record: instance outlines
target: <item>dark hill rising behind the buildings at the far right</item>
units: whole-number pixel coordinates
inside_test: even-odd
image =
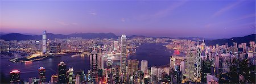
[[[233,45],[233,42],[236,42],[237,44],[246,43],[249,45],[250,41],[255,41],[256,37],[255,34],[247,35],[243,37],[232,37],[230,39],[217,39],[217,40],[205,40],[205,45],[224,45],[225,43],[228,43],[228,45]]]

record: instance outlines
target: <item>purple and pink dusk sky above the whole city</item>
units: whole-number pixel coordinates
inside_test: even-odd
[[[0,1],[1,32],[113,32],[213,39],[255,33],[255,0]]]

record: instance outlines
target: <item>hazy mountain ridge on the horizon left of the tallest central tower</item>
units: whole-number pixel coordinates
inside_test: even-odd
[[[53,34],[47,33],[47,39],[65,39],[70,37],[82,37],[83,39],[94,39],[94,38],[114,38],[117,39],[118,36],[114,35],[114,33],[72,33],[70,35],[61,35],[61,34]],[[20,33],[9,33],[6,35],[1,35],[0,39],[3,40],[42,40],[42,35],[23,35]]]

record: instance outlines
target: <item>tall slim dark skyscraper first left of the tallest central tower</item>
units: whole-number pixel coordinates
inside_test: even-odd
[[[90,53],[90,61],[91,61],[91,66],[90,68],[92,69],[92,82],[97,83],[98,81],[98,53],[95,49]]]

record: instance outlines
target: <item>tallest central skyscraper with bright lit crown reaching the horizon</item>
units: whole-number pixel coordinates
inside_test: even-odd
[[[121,36],[121,58],[120,58],[120,64],[121,64],[121,79],[125,80],[126,75],[126,36]]]

